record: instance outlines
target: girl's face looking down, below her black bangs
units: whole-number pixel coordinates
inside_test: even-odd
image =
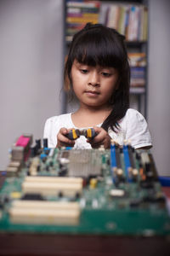
[[[91,67],[75,60],[71,67],[71,80],[81,106],[108,108],[118,86],[118,72],[113,67]]]

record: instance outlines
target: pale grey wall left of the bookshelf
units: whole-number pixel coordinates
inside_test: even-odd
[[[14,138],[61,111],[62,0],[0,1],[0,170]]]

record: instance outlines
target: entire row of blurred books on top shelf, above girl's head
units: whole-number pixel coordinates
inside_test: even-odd
[[[66,1],[66,39],[88,22],[115,28],[130,42],[147,40],[148,9],[143,4]]]

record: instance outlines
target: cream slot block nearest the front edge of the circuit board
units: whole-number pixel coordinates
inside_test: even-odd
[[[75,202],[14,201],[8,210],[14,224],[78,224],[80,207]]]

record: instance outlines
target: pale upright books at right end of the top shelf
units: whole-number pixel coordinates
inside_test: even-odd
[[[99,22],[115,28],[127,41],[146,41],[148,9],[143,4],[102,3]]]

